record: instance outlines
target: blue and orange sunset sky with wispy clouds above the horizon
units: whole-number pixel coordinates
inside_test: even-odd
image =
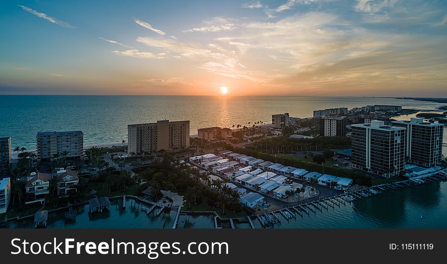
[[[0,94],[447,93],[447,1],[2,1]]]

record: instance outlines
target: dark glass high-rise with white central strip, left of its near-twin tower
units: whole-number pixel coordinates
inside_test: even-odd
[[[353,168],[383,177],[399,175],[405,166],[406,129],[383,121],[352,125]]]

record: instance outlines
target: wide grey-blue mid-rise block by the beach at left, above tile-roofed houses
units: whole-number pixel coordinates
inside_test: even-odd
[[[84,149],[84,133],[82,131],[39,132],[37,139],[37,160],[53,161],[59,154],[65,158],[80,158]],[[67,155],[63,153],[67,151]]]

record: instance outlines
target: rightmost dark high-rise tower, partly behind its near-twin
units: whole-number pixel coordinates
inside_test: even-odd
[[[433,167],[442,161],[442,124],[424,122],[422,118],[393,121],[392,124],[407,130],[405,155],[409,162]]]

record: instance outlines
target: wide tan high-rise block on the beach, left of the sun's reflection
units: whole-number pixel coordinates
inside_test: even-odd
[[[189,147],[189,121],[169,120],[127,126],[127,153],[156,153]]]

